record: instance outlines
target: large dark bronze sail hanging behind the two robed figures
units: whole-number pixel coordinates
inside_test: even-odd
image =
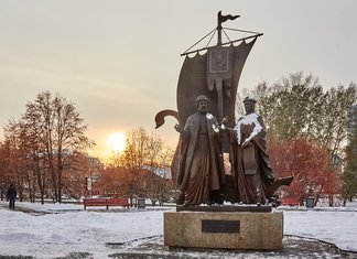
[[[228,47],[220,47],[228,53],[228,72],[216,73],[219,74],[217,76],[215,76],[215,73],[209,73],[208,71],[209,62],[213,62],[208,60],[209,53],[215,48],[209,48],[203,55],[197,53],[194,57],[186,55],[180,73],[176,95],[181,123],[184,125],[187,117],[195,112],[195,107],[192,105],[195,98],[198,95],[206,95],[212,101],[209,111],[218,118],[218,120],[228,116],[229,120],[227,126],[234,127],[236,121],[235,106],[239,78],[249,52],[256,41],[257,37],[249,43],[242,41],[238,46],[231,45]],[[221,84],[220,89],[217,89],[218,84]],[[219,112],[219,95],[221,95],[223,98],[221,112]]]

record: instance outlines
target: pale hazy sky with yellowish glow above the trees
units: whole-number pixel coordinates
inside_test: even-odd
[[[357,82],[354,0],[0,0],[0,127],[51,90],[75,104],[98,152],[113,132],[153,131],[158,111],[176,109],[180,54],[219,10],[241,15],[224,26],[264,33],[239,87],[299,71],[326,88]],[[175,143],[174,123],[154,131]]]

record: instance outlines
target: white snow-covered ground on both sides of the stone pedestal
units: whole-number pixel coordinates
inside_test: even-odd
[[[120,244],[163,235],[163,208],[87,208],[73,204],[30,204],[17,202],[9,211],[0,202],[0,256],[64,257],[71,252],[108,258],[115,252],[106,244]],[[316,238],[339,249],[357,252],[357,205],[345,208],[284,209],[284,235]],[[170,211],[173,208],[165,208]]]

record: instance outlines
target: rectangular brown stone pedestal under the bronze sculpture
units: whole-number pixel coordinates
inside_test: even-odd
[[[169,247],[280,250],[283,213],[165,212]]]

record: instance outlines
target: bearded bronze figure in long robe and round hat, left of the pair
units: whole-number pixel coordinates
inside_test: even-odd
[[[195,99],[197,111],[191,115],[181,133],[180,152],[175,155],[176,184],[182,192],[177,204],[212,204],[214,192],[225,181],[221,154],[221,129],[216,117],[208,114],[209,99],[199,95]]]

